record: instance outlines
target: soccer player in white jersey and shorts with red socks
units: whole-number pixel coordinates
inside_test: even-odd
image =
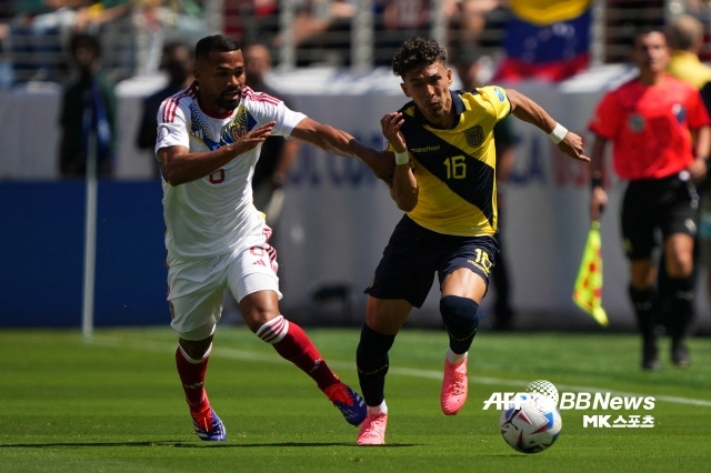
[[[279,310],[281,298],[271,229],[252,204],[251,179],[270,134],[357,157],[377,177],[393,171],[391,154],[342,130],[289,110],[244,84],[244,61],[233,39],[217,34],[196,46],[194,82],[158,112],[157,158],[163,185],[168,302],[179,334],[176,364],[198,436],[224,441],[203,383],[223,291],[239,303],[247,326],[311,376],[346,420],[365,417],[361,396],[340,381],[308,335]]]

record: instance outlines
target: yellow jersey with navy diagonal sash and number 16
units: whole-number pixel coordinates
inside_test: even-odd
[[[451,93],[459,118],[451,129],[432,127],[414,102],[400,110],[419,188],[418,203],[408,215],[439,233],[493,235],[498,227],[493,125],[511,112],[511,102],[498,85]]]

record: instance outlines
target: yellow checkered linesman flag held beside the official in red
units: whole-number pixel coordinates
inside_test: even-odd
[[[602,326],[608,325],[608,315],[602,309],[602,252],[600,222],[593,221],[582,253],[573,302],[588,312]]]

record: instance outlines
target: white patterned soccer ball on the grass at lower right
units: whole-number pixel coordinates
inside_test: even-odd
[[[523,453],[538,453],[560,435],[563,421],[553,401],[537,392],[517,393],[501,411],[499,426],[503,440]]]

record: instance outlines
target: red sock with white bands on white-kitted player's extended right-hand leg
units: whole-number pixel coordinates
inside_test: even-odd
[[[339,382],[309,335],[296,323],[279,315],[260,326],[257,336],[271,343],[277,353],[311,376],[321,391]]]

